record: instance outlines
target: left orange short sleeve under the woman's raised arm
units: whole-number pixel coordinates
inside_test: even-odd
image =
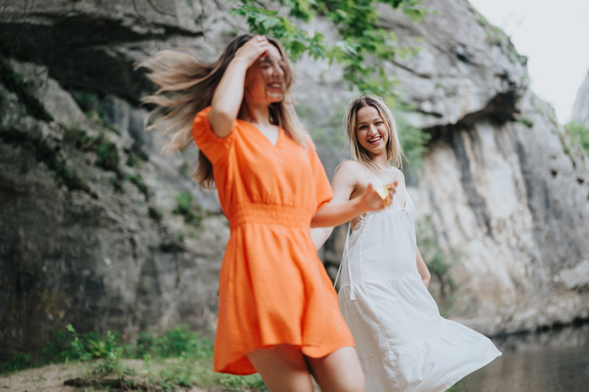
[[[209,122],[210,112],[211,107],[209,106],[202,109],[197,113],[196,117],[194,117],[192,123],[192,137],[198,150],[202,151],[204,155],[209,158],[211,164],[214,165],[227,155],[235,132],[234,129],[232,129],[231,133],[226,137],[221,138],[217,136],[217,134],[213,132],[213,128],[211,128]]]

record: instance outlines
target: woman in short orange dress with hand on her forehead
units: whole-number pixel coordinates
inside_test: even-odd
[[[138,65],[161,89],[145,101],[170,137],[199,148],[196,180],[216,185],[231,235],[219,277],[214,370],[260,373],[270,390],[364,389],[352,334],[310,237],[383,207],[378,193],[344,204],[294,112],[293,71],[279,42],[241,35],[213,64],[176,51]],[[196,114],[196,117],[194,115]],[[394,187],[391,194],[394,192]]]

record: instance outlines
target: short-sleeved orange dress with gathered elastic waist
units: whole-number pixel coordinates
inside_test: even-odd
[[[194,142],[213,164],[231,235],[219,277],[214,370],[252,374],[246,354],[292,344],[319,358],[354,346],[309,229],[333,192],[315,149],[280,129],[276,145],[237,119],[224,138],[210,107],[193,122]]]

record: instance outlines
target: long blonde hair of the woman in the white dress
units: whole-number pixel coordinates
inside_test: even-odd
[[[346,106],[346,115],[343,120],[346,144],[352,152],[352,161],[358,162],[370,170],[379,170],[376,164],[372,161],[370,153],[366,151],[358,142],[358,135],[356,134],[356,125],[358,125],[358,111],[367,106],[373,107],[378,111],[382,121],[386,125],[389,132],[389,139],[386,142],[386,160],[393,167],[403,169],[403,159],[405,154],[399,143],[399,135],[397,133],[397,125],[395,123],[395,116],[393,116],[391,109],[385,104],[385,101],[378,95],[362,94],[359,97],[352,99]]]

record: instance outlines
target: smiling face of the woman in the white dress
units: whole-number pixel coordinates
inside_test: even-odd
[[[356,114],[356,137],[358,143],[372,157],[384,154],[386,157],[386,143],[389,141],[389,131],[383,118],[376,108],[365,106]]]

